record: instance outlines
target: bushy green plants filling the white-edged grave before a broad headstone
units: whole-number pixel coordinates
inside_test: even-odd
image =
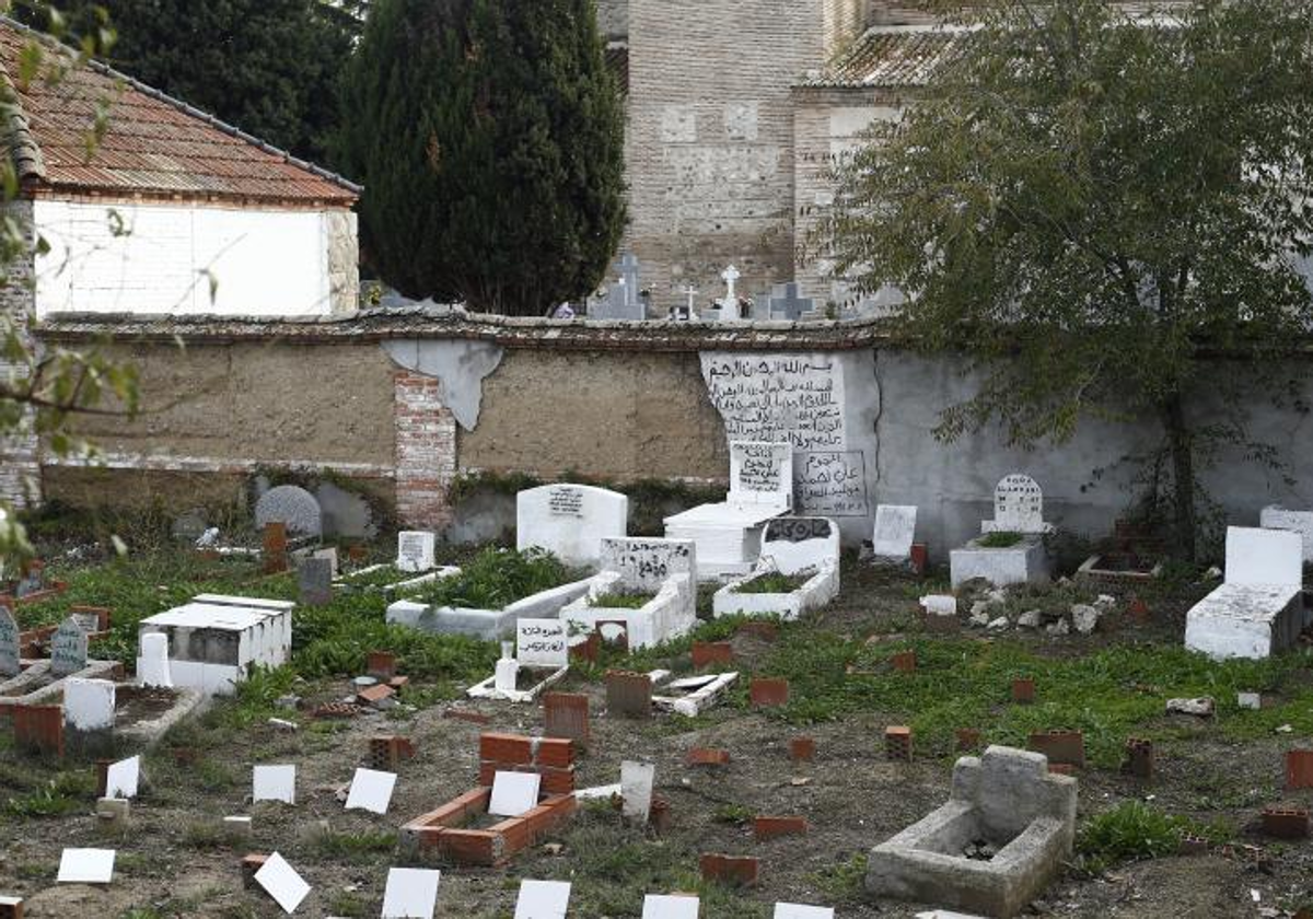
[[[541,549],[484,549],[461,568],[461,574],[442,578],[415,596],[435,607],[503,609],[583,576]]]

